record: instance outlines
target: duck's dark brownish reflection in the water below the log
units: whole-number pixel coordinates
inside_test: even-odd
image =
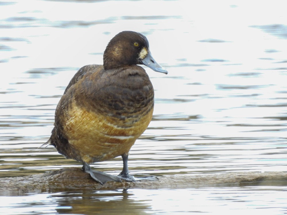
[[[122,191],[80,191],[55,193],[48,197],[59,214],[146,214],[150,204],[135,201],[134,194]]]

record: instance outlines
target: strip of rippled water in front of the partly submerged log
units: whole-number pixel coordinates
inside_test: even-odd
[[[0,214],[282,214],[287,209],[285,191],[284,187],[271,186],[55,191],[0,197]]]

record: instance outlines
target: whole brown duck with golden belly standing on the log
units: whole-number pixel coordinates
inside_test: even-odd
[[[154,110],[154,88],[145,69],[167,74],[152,57],[141,33],[123,31],[106,46],[103,65],[80,68],[55,110],[49,140],[66,158],[82,162],[83,171],[100,184],[108,181],[158,180],[129,175],[129,150],[147,129]],[[44,145],[43,144],[43,145]],[[121,156],[118,176],[93,170],[90,164]]]

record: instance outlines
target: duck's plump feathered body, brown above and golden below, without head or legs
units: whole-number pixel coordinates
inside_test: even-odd
[[[55,113],[51,144],[87,163],[128,153],[152,118],[154,90],[142,67],[82,67]]]

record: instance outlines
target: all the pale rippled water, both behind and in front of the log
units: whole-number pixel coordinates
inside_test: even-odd
[[[124,6],[123,6],[124,5]],[[284,1],[1,1],[0,174],[81,167],[53,147],[56,105],[118,32],[145,34],[155,110],[130,172],[287,171]],[[152,146],[152,147],[151,147]],[[120,158],[94,165],[116,175]],[[286,187],[51,191],[0,197],[0,214],[286,214]]]

